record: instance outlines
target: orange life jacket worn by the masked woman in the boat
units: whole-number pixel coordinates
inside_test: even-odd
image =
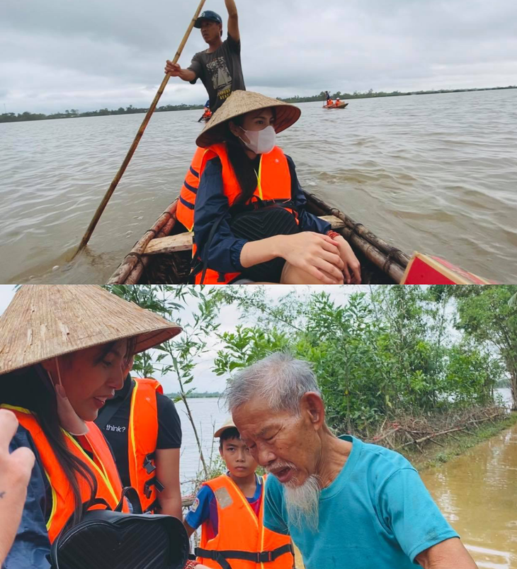
[[[209,160],[218,157],[222,164],[222,186],[225,196],[228,198],[228,205],[231,208],[241,195],[241,186],[237,176],[229,161],[227,146],[220,143],[210,146],[203,155],[200,176],[203,175],[206,164]],[[275,146],[268,154],[261,155],[260,166],[257,172],[257,187],[248,203],[256,201],[278,201],[289,202],[291,195],[291,174],[289,171],[288,159],[283,151]],[[195,247],[193,255],[195,256]],[[239,278],[240,273],[223,274],[218,271],[208,269],[203,280],[204,284],[227,284]],[[201,284],[202,272],[195,275],[195,283]]]

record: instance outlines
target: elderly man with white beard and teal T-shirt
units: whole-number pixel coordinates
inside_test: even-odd
[[[307,569],[475,569],[401,454],[334,436],[306,361],[272,354],[226,392],[241,439],[268,473],[264,525],[290,535]]]

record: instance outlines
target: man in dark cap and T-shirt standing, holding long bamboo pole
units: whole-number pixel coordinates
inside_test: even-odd
[[[210,110],[215,113],[233,91],[246,90],[241,64],[241,36],[239,16],[234,0],[225,0],[228,11],[228,37],[222,40],[222,18],[206,10],[195,21],[195,28],[201,30],[208,49],[194,55],[190,66],[181,69],[178,63],[167,60],[165,72],[171,77],[195,84],[198,79],[210,98]]]

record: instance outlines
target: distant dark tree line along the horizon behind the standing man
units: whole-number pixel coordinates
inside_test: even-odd
[[[341,99],[352,99],[352,98],[375,98],[375,97],[399,97],[399,96],[409,96],[409,95],[434,95],[434,94],[445,94],[445,93],[469,93],[471,91],[501,91],[504,89],[517,89],[517,85],[509,85],[506,87],[486,87],[480,89],[439,89],[434,91],[369,91],[360,92],[354,91],[353,93],[341,93],[341,91],[336,91],[331,94],[331,98],[341,98]],[[300,97],[298,95],[280,98],[279,101],[284,101],[285,103],[311,103],[314,101],[324,101],[326,99],[325,91],[322,91],[319,95],[313,95],[309,97]],[[164,105],[157,107],[154,111],[156,113],[164,113],[168,111],[195,111],[203,109],[203,105],[187,105],[182,103],[181,105]],[[109,116],[109,115],[135,115],[138,113],[147,113],[149,108],[139,108],[132,105],[124,108],[119,107],[118,109],[108,109],[101,108],[98,111],[86,111],[85,113],[79,113],[78,109],[67,109],[64,113],[52,113],[50,115],[45,115],[44,113],[29,113],[25,111],[24,113],[2,113],[0,114],[0,123],[19,123],[26,120],[50,120],[57,118],[79,118],[79,117],[93,117],[93,116]]]

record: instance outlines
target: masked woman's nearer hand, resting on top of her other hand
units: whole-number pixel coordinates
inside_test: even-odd
[[[292,266],[306,271],[326,284],[343,283],[345,264],[338,242],[327,235],[302,232],[295,235],[277,235],[279,255]]]

